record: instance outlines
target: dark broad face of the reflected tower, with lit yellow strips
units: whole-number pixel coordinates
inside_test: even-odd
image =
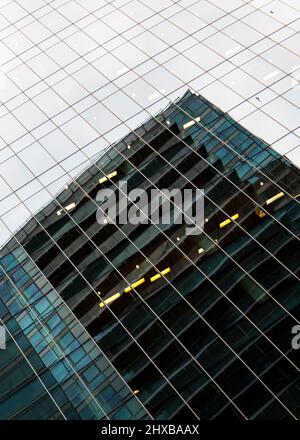
[[[128,191],[204,188],[204,232],[99,224],[96,194],[120,179]],[[298,418],[299,182],[287,159],[187,92],[15,240],[151,417]]]

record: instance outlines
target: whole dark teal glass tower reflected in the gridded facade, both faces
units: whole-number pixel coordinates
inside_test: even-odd
[[[105,221],[120,181],[204,189],[203,231]],[[299,418],[299,193],[189,91],[102,152],[1,250],[0,418]]]

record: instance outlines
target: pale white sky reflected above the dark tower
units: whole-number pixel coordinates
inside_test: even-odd
[[[0,0],[0,243],[189,87],[300,164],[299,0]]]

